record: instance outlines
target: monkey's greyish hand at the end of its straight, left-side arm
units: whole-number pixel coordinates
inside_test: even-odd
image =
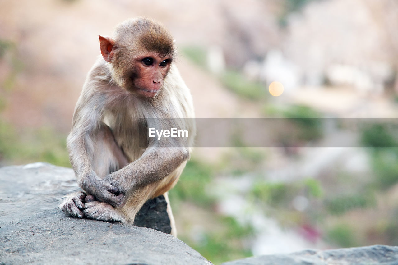
[[[97,176],[90,176],[78,182],[84,191],[93,195],[98,201],[109,203],[113,207],[117,207],[121,203],[121,197],[115,195],[118,192],[117,187],[109,184],[104,179],[100,179]]]

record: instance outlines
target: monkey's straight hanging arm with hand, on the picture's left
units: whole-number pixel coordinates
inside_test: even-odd
[[[117,206],[121,199],[117,188],[101,179],[94,170],[94,152],[101,132],[102,105],[97,94],[82,94],[76,105],[72,130],[67,138],[70,163],[78,185],[99,201]],[[105,175],[105,174],[104,174]]]

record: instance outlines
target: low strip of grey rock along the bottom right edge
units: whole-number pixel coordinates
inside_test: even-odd
[[[397,265],[398,247],[367,246],[332,250],[304,250],[292,254],[263,255],[222,265]]]

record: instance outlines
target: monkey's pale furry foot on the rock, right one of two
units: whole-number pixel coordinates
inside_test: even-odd
[[[108,203],[102,203],[99,201],[93,201],[90,203],[84,203],[84,216],[94,220],[101,221],[115,221],[115,222],[126,222],[126,217],[123,213],[119,212],[112,205]]]

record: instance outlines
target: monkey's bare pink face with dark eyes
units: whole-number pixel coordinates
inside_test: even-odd
[[[171,58],[147,55],[136,60],[137,76],[133,78],[135,92],[142,97],[152,98],[163,86],[163,80],[169,71]]]

